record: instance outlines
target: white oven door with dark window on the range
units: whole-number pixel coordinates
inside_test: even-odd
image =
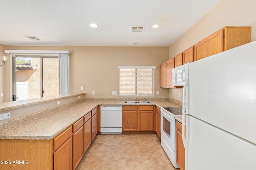
[[[161,140],[175,152],[175,119],[161,110]]]

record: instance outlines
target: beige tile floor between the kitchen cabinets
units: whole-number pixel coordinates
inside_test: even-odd
[[[156,134],[97,135],[76,170],[175,170]]]

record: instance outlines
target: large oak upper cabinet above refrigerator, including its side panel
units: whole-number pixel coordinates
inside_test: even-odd
[[[195,61],[251,42],[251,27],[224,27],[194,45]]]

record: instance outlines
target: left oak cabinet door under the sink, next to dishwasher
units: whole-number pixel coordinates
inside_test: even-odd
[[[137,131],[137,110],[123,111],[122,131]]]

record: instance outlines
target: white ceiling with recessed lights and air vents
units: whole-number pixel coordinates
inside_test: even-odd
[[[0,44],[167,47],[220,1],[1,0]],[[144,31],[132,32],[132,25]]]

